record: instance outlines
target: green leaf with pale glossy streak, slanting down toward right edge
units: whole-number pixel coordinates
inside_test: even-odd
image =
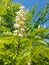
[[[38,36],[35,36],[32,40],[33,42],[33,45],[42,45],[42,46],[48,46],[47,45],[47,42],[45,42],[39,35]]]

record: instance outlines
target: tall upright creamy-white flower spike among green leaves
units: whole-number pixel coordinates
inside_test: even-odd
[[[24,25],[25,25],[25,7],[19,7],[19,11],[16,13],[15,24],[14,24],[14,35],[23,36],[24,35]]]

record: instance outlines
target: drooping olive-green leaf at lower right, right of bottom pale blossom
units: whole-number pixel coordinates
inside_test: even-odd
[[[41,53],[42,46],[35,46],[31,52],[31,59],[33,62],[37,63],[37,57],[39,57],[39,54]]]

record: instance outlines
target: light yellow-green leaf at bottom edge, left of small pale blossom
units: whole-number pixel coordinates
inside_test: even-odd
[[[16,58],[17,59],[17,58]],[[20,56],[20,59],[18,57],[18,65],[26,65],[27,62],[31,59],[30,51],[27,51],[24,53],[24,55]],[[23,61],[23,62],[22,62]],[[24,63],[24,64],[23,64]],[[17,65],[17,64],[16,64]]]

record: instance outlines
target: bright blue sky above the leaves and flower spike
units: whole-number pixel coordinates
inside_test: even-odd
[[[18,2],[25,6],[26,9],[30,9],[32,6],[34,6],[36,3],[38,3],[37,9],[45,8],[46,2],[49,2],[49,0],[13,0],[14,2]],[[49,21],[46,23],[46,26],[49,26]]]

